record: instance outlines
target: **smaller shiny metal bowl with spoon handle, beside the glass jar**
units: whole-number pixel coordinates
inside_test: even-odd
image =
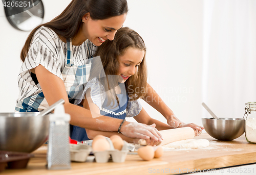
[[[245,132],[243,118],[202,118],[205,131],[218,140],[233,140]]]

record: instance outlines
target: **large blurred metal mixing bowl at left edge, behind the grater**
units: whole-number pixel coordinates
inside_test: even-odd
[[[0,113],[0,150],[31,153],[49,136],[49,115]]]

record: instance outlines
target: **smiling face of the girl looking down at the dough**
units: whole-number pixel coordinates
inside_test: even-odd
[[[144,55],[145,51],[129,47],[122,56],[118,57],[119,69],[117,75],[120,76],[120,83],[124,83],[137,72]]]

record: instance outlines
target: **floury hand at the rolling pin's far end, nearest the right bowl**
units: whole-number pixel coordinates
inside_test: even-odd
[[[195,136],[202,134],[204,127],[200,127],[195,123],[184,123],[180,121],[174,114],[167,118],[167,123],[173,128],[191,127],[195,131]]]

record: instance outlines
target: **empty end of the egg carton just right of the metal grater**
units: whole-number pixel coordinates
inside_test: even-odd
[[[74,162],[85,162],[92,151],[92,146],[86,144],[69,144],[70,158]]]

